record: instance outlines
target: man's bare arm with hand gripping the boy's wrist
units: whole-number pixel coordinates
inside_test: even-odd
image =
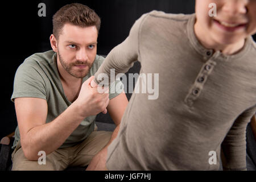
[[[92,79],[93,77],[90,77],[84,82],[77,100],[49,123],[46,123],[46,100],[15,98],[20,142],[28,160],[38,160],[39,151],[50,154],[64,143],[85,117],[96,115],[106,109],[109,104],[109,94],[100,94],[97,88],[91,88],[89,84]]]

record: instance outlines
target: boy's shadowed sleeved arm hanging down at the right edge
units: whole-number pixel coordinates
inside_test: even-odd
[[[256,107],[243,112],[222,142],[222,166],[224,170],[246,170],[246,126]]]

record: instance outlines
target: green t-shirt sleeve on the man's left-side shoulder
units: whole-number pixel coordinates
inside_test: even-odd
[[[18,97],[36,97],[47,100],[46,83],[40,74],[40,66],[34,60],[25,60],[15,73],[11,101]]]

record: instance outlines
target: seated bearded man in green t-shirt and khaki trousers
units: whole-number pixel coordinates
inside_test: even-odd
[[[16,71],[13,170],[64,170],[87,166],[93,157],[92,165],[104,162],[128,101],[120,90],[99,93],[90,86],[104,61],[96,55],[99,30],[93,10],[66,5],[53,16],[53,51],[28,57]],[[113,134],[95,128],[96,114],[107,110],[117,125]],[[47,157],[40,165],[42,154]]]

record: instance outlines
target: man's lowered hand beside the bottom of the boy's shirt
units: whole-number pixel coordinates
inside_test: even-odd
[[[107,147],[104,147],[100,152],[98,152],[86,168],[86,171],[105,171],[107,152]]]

